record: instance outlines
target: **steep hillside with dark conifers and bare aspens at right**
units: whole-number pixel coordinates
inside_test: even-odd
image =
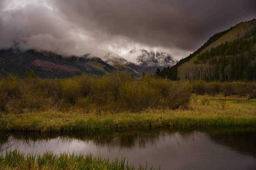
[[[256,80],[256,20],[216,33],[160,75],[172,80]]]

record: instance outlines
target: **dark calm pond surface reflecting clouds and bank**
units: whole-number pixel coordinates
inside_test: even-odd
[[[256,128],[130,130],[75,134],[3,133],[0,153],[75,152],[106,158],[126,156],[161,169],[256,170]]]

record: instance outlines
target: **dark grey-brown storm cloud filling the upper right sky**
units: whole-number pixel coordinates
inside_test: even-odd
[[[59,0],[57,6],[81,26],[86,27],[83,20],[90,20],[111,35],[186,50],[256,16],[255,0]]]

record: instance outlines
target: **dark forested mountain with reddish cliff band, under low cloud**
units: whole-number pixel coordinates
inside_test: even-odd
[[[63,57],[52,52],[8,49],[0,50],[0,61],[0,76],[14,73],[23,77],[26,71],[33,70],[36,76],[41,78],[64,78],[80,75],[83,72],[103,75],[114,71],[126,71],[139,77],[136,70],[126,65],[112,66],[90,54],[82,57]]]

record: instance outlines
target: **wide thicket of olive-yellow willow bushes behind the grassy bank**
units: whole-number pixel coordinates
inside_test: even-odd
[[[25,78],[9,75],[0,80],[5,85],[0,92],[0,109],[45,109],[54,106],[68,110],[76,106],[86,113],[92,106],[101,111],[148,108],[176,109],[187,107],[192,86],[189,82],[172,82],[144,76],[134,79],[130,74],[115,72],[102,77],[83,74],[64,79]],[[7,97],[8,96],[8,97]]]

